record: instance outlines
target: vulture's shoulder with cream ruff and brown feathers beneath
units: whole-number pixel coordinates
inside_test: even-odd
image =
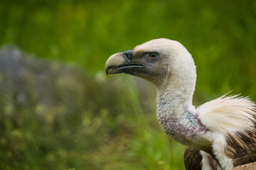
[[[218,142],[219,153],[233,159],[233,166],[256,162],[255,103],[238,95],[222,96],[197,111],[201,123],[218,134],[218,139],[213,137],[213,149]]]

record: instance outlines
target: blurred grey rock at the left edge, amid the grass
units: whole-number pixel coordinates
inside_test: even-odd
[[[38,59],[14,45],[0,50],[0,91],[9,104],[71,111],[82,104],[86,81],[92,78],[68,64]]]

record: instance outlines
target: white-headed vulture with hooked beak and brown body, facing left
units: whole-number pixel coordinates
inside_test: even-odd
[[[227,94],[195,107],[196,66],[180,42],[159,38],[110,56],[107,74],[156,86],[156,117],[166,135],[188,146],[186,169],[256,169],[256,104]]]

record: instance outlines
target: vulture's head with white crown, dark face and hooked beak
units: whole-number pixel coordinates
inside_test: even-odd
[[[126,73],[142,77],[158,88],[196,83],[196,66],[180,42],[159,38],[137,45],[133,50],[112,55],[105,64],[107,74]]]

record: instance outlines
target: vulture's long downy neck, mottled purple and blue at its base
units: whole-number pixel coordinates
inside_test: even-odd
[[[208,129],[202,125],[192,105],[195,83],[196,80],[181,82],[169,79],[167,86],[157,89],[156,109],[159,123],[167,135],[183,145],[201,149],[198,140],[202,140],[200,136]]]

